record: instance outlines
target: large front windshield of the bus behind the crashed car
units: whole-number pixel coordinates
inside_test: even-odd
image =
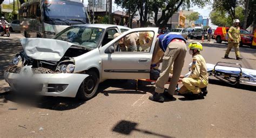
[[[82,3],[71,1],[44,1],[44,21],[70,24],[88,23],[86,10]]]

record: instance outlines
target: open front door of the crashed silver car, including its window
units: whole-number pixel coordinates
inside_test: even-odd
[[[102,47],[102,78],[150,78],[157,31],[158,28],[134,28]]]

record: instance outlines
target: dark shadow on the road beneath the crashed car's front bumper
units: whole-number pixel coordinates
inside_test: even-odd
[[[7,103],[9,100],[27,106],[56,111],[72,110],[79,107],[80,105],[85,104],[85,101],[81,101],[76,98],[18,95],[14,92],[1,93],[0,98],[4,99],[4,103]]]

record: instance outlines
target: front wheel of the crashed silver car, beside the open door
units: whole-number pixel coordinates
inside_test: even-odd
[[[99,76],[95,71],[86,72],[88,77],[80,84],[76,98],[80,100],[89,100],[97,95],[99,86]]]

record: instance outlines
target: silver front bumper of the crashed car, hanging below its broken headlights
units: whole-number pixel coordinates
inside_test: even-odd
[[[42,96],[76,97],[80,84],[89,76],[86,74],[23,75],[23,70],[19,74],[5,71],[5,81],[14,91],[25,93],[26,90],[32,89],[35,92],[33,94]]]

